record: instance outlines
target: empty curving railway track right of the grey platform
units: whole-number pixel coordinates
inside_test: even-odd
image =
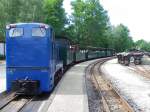
[[[99,93],[103,112],[134,112],[128,102],[119,95],[100,70],[100,66],[111,58],[101,59],[90,65],[91,80]]]

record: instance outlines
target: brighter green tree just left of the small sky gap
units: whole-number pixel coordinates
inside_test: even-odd
[[[44,0],[44,22],[52,25],[56,34],[60,35],[66,23],[63,0]]]

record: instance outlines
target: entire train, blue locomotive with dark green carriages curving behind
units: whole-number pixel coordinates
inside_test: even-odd
[[[7,91],[26,95],[50,92],[58,72],[68,65],[113,55],[113,49],[80,49],[67,39],[55,39],[53,28],[43,23],[7,25]]]

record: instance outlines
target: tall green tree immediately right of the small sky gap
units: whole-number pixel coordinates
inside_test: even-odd
[[[99,0],[76,0],[72,6],[74,40],[83,46],[105,47],[108,16]]]

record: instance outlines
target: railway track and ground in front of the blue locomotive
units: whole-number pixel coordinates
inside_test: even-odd
[[[49,93],[38,96],[19,96],[14,92],[1,94],[0,112],[47,112],[52,101],[53,97]],[[44,105],[43,102],[45,102]]]

